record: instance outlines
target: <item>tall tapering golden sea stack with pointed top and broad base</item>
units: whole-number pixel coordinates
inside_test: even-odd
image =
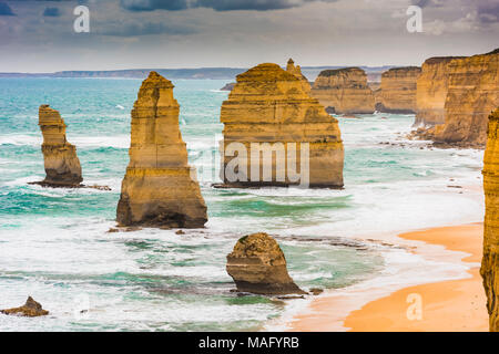
[[[121,186],[121,226],[198,228],[206,206],[187,164],[173,84],[151,72],[132,110],[130,164]],[[193,179],[194,178],[194,179]]]

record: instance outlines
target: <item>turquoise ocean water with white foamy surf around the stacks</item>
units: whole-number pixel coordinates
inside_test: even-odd
[[[227,96],[218,88],[225,83],[174,81],[183,138],[208,206],[206,228],[108,233],[141,81],[0,79],[0,309],[20,305],[30,294],[51,312],[40,319],[0,316],[0,331],[259,330],[301,300],[230,292],[225,256],[253,231],[278,239],[304,289],[361,287],[387,279],[388,266],[391,282],[416,280],[425,267],[441,277],[448,264],[429,264],[383,240],[479,221],[481,152],[406,140],[411,115],[339,118],[344,190],[213,189],[220,106]],[[40,104],[59,110],[68,124],[84,184],[111,191],[27,184],[44,177]]]

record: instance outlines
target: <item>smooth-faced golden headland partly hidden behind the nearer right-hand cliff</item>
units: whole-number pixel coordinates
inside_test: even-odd
[[[449,64],[464,56],[436,56],[426,60],[417,80],[415,126],[442,124],[446,117],[446,97],[449,86]]]

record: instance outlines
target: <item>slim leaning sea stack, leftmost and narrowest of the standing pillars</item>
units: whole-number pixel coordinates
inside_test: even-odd
[[[65,124],[58,111],[48,104],[39,108],[39,125],[43,135],[42,153],[47,177],[39,183],[43,186],[79,186],[81,165],[77,148],[65,139]]]

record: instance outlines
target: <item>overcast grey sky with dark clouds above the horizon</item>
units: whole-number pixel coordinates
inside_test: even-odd
[[[73,30],[80,3],[90,33]],[[420,65],[498,48],[498,18],[499,0],[0,0],[0,72]]]

